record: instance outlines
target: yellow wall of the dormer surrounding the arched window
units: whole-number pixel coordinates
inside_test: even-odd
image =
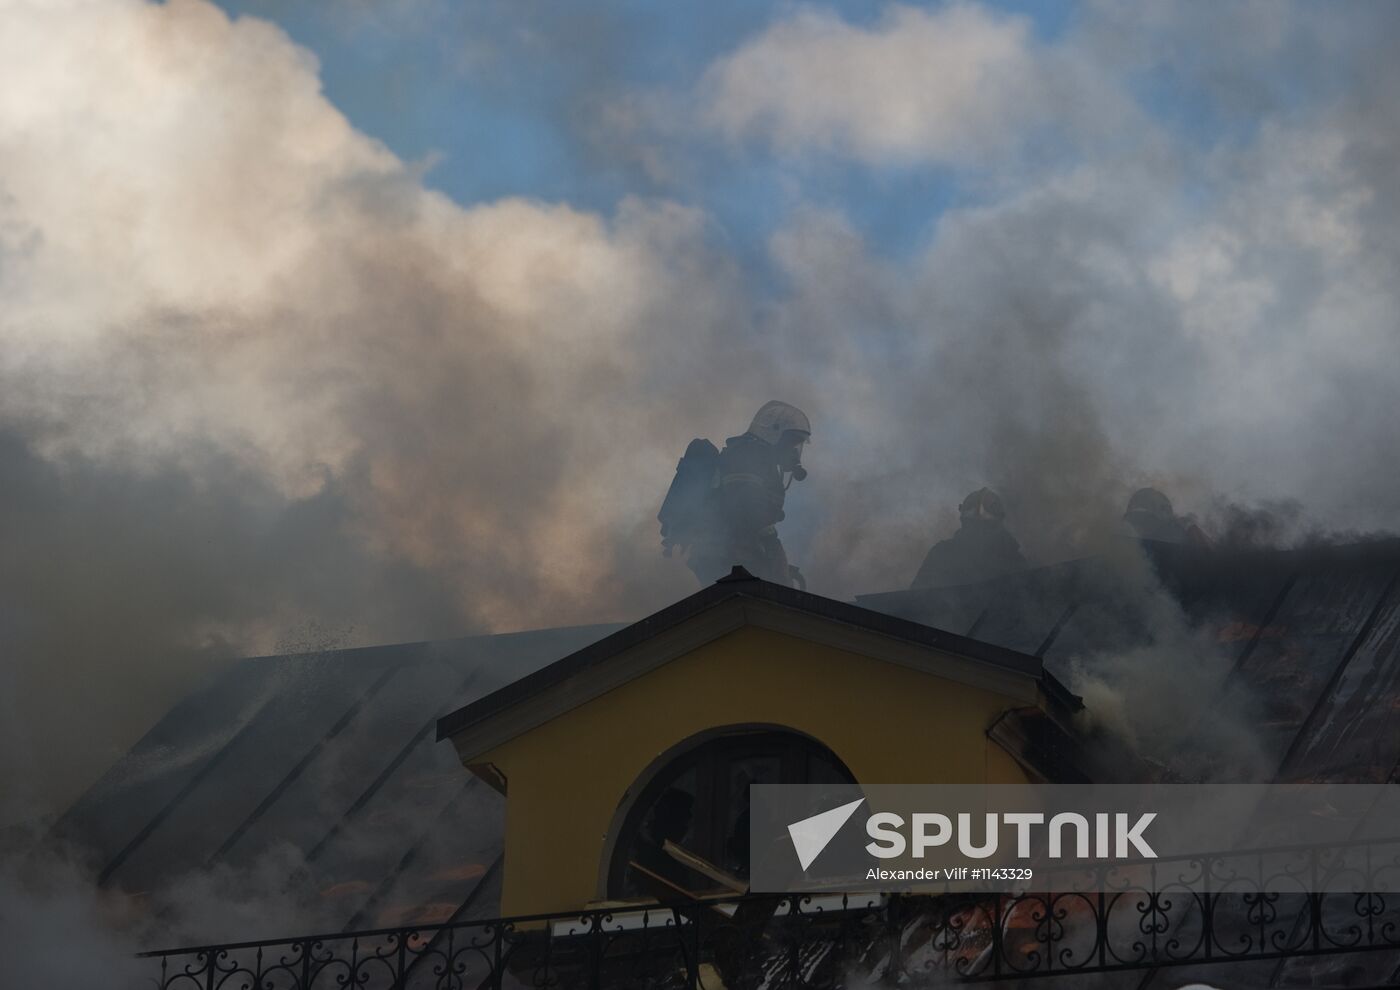
[[[608,829],[629,788],[707,730],[804,732],[861,784],[1023,784],[987,728],[1026,703],[770,629],[727,633],[472,760],[507,781],[501,910],[596,900]]]

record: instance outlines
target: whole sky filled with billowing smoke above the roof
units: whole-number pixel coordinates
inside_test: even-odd
[[[234,658],[690,594],[774,398],[830,598],[984,486],[1400,529],[1400,7],[699,7],[0,0],[0,826]]]

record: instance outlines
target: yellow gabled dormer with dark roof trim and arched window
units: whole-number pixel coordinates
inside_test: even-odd
[[[447,716],[507,797],[507,916],[748,868],[755,783],[1065,779],[1077,697],[1035,657],[759,581],[714,585]]]

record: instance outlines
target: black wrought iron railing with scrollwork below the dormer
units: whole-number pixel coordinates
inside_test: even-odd
[[[1319,893],[1351,868],[1336,851],[1242,856],[1102,865],[1057,893],[749,895],[144,956],[160,990],[815,990],[1400,952],[1400,858],[1365,847],[1351,888]]]

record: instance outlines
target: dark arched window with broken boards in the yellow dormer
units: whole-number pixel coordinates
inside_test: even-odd
[[[717,889],[666,853],[668,840],[746,879],[750,784],[853,783],[830,749],[798,732],[749,730],[704,739],[643,786],[612,847],[608,896],[657,896],[666,884],[696,893]]]

